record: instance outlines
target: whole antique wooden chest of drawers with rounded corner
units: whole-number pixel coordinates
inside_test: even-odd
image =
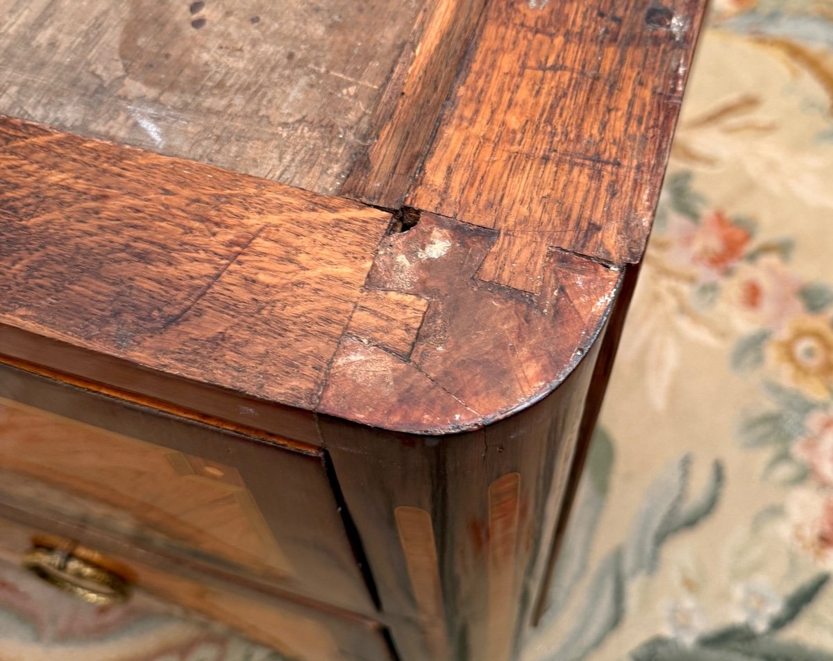
[[[0,11],[3,557],[305,661],[515,658],[702,3]]]

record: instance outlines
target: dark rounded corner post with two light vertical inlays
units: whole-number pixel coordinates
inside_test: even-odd
[[[321,418],[404,661],[516,658],[595,360],[593,350],[541,402],[478,432],[420,437]]]

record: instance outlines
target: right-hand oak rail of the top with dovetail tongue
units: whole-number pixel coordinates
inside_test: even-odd
[[[480,278],[527,292],[547,247],[638,260],[704,4],[490,3],[407,203],[498,230]]]

